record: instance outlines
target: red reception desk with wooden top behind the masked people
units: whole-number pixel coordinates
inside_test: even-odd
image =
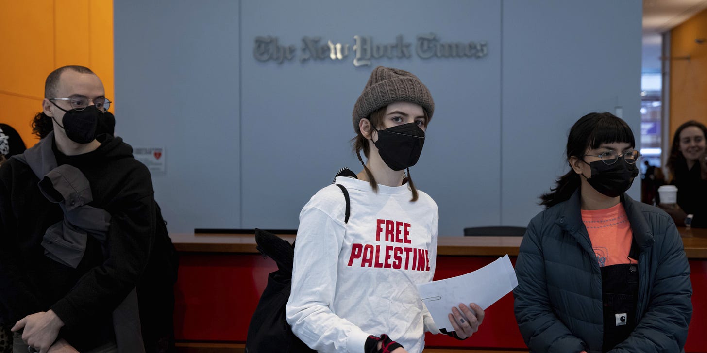
[[[686,352],[707,353],[707,229],[679,229],[691,268],[694,312]],[[255,249],[253,234],[172,234],[180,252],[175,288],[175,336],[180,352],[243,351],[250,317],[277,267]],[[293,235],[282,235],[292,242]],[[463,275],[510,255],[522,237],[439,237],[435,280]],[[473,337],[426,336],[425,352],[525,351],[513,315],[513,294],[486,310]]]

